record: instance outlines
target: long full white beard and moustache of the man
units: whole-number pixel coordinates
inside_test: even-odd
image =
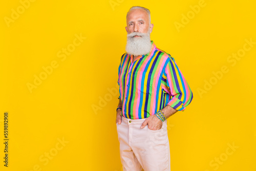
[[[134,37],[134,36],[141,37]],[[147,33],[133,32],[127,34],[125,51],[134,56],[145,55],[151,51],[150,30]]]

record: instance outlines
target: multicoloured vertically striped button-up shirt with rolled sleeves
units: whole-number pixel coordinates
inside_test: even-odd
[[[151,44],[151,51],[135,61],[127,53],[121,57],[118,84],[125,118],[147,118],[167,104],[184,111],[193,99],[174,58],[158,49],[153,41]]]

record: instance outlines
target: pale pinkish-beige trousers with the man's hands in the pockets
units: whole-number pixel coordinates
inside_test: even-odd
[[[122,117],[116,124],[120,157],[124,171],[170,171],[170,150],[167,121],[160,130],[140,126],[145,119]]]

